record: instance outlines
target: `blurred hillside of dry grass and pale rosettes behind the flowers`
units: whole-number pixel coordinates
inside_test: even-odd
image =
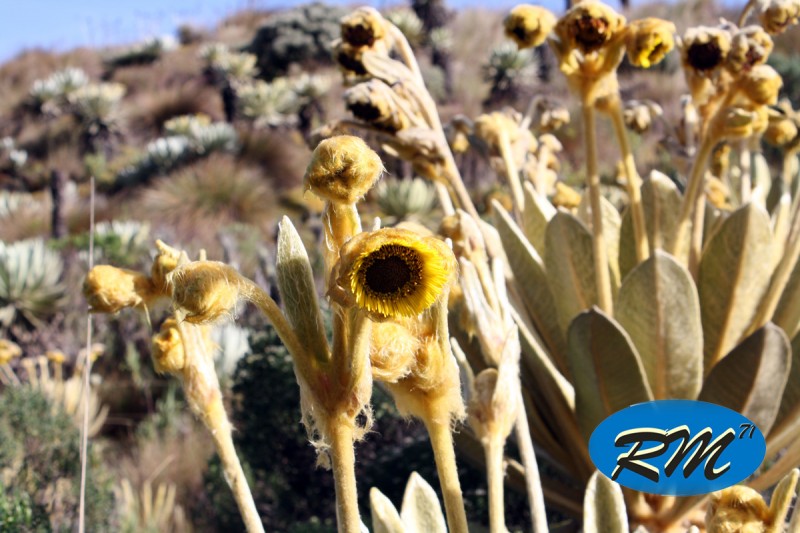
[[[75,406],[48,393],[44,382],[66,390],[79,370],[90,177],[97,183],[95,262],[146,268],[158,238],[195,254],[205,250],[275,293],[279,217],[302,222],[296,226],[307,248],[319,249],[320,205],[304,196],[301,182],[313,129],[346,116],[330,48],[345,12],[319,3],[244,10],[213,28],[181,27],[169,38],[65,53],[33,49],[0,65],[0,339],[22,348],[21,357],[6,358],[0,347],[0,529],[66,530],[74,519]],[[737,12],[688,1],[637,5],[626,15],[661,16],[680,34]],[[524,109],[536,94],[577,106],[565,98],[563,77],[551,76],[554,59],[546,47],[519,52],[504,42],[502,12],[451,12],[429,1],[385,15],[415,47],[445,122],[505,105]],[[794,108],[800,105],[798,37],[794,27],[776,39],[770,60]],[[663,121],[633,136],[643,175],[656,167],[674,174],[680,164],[676,132],[668,126],[677,123],[686,91],[678,61],[673,53],[646,75],[630,66],[621,70],[624,99],[635,95],[663,108]],[[578,183],[579,132],[567,125],[558,137],[561,178]],[[600,147],[607,149],[616,150]],[[384,220],[432,225],[438,215],[430,185],[415,180],[410,165],[382,156],[388,174],[365,209]],[[479,204],[507,200],[485,157],[458,158]],[[617,169],[601,172],[612,176]],[[155,320],[163,315],[150,311]],[[311,469],[315,454],[300,424],[288,354],[259,316],[243,311],[238,318],[217,332],[218,365],[259,511],[274,530],[331,531],[332,478]],[[209,437],[180,389],[152,370],[150,335],[141,314],[95,319],[95,340],[103,347],[94,367],[96,401],[107,413],[98,411],[105,417],[90,448],[89,527],[239,530]],[[411,471],[438,486],[423,429],[401,419],[383,391],[375,394],[376,424],[357,448],[364,509],[372,486],[399,502]],[[469,457],[459,460],[468,515],[485,525],[483,471]],[[516,488],[507,503],[512,530],[529,522],[524,489]],[[574,528],[555,511],[550,522]]]

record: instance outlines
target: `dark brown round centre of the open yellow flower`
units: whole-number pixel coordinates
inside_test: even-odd
[[[386,244],[370,254],[361,268],[364,287],[373,294],[404,296],[421,281],[422,262],[411,248]]]

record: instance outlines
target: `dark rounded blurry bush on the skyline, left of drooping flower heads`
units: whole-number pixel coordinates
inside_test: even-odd
[[[258,57],[266,79],[285,74],[289,65],[331,63],[331,42],[339,36],[339,20],[347,10],[313,3],[272,16],[259,28],[247,51]]]

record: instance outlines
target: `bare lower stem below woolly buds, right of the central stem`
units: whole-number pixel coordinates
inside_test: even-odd
[[[467,514],[464,511],[464,498],[461,495],[461,483],[458,480],[450,421],[442,422],[429,415],[423,419],[423,422],[428,430],[436,460],[436,471],[439,474],[444,509],[447,515],[447,527],[451,533],[468,533]]]

